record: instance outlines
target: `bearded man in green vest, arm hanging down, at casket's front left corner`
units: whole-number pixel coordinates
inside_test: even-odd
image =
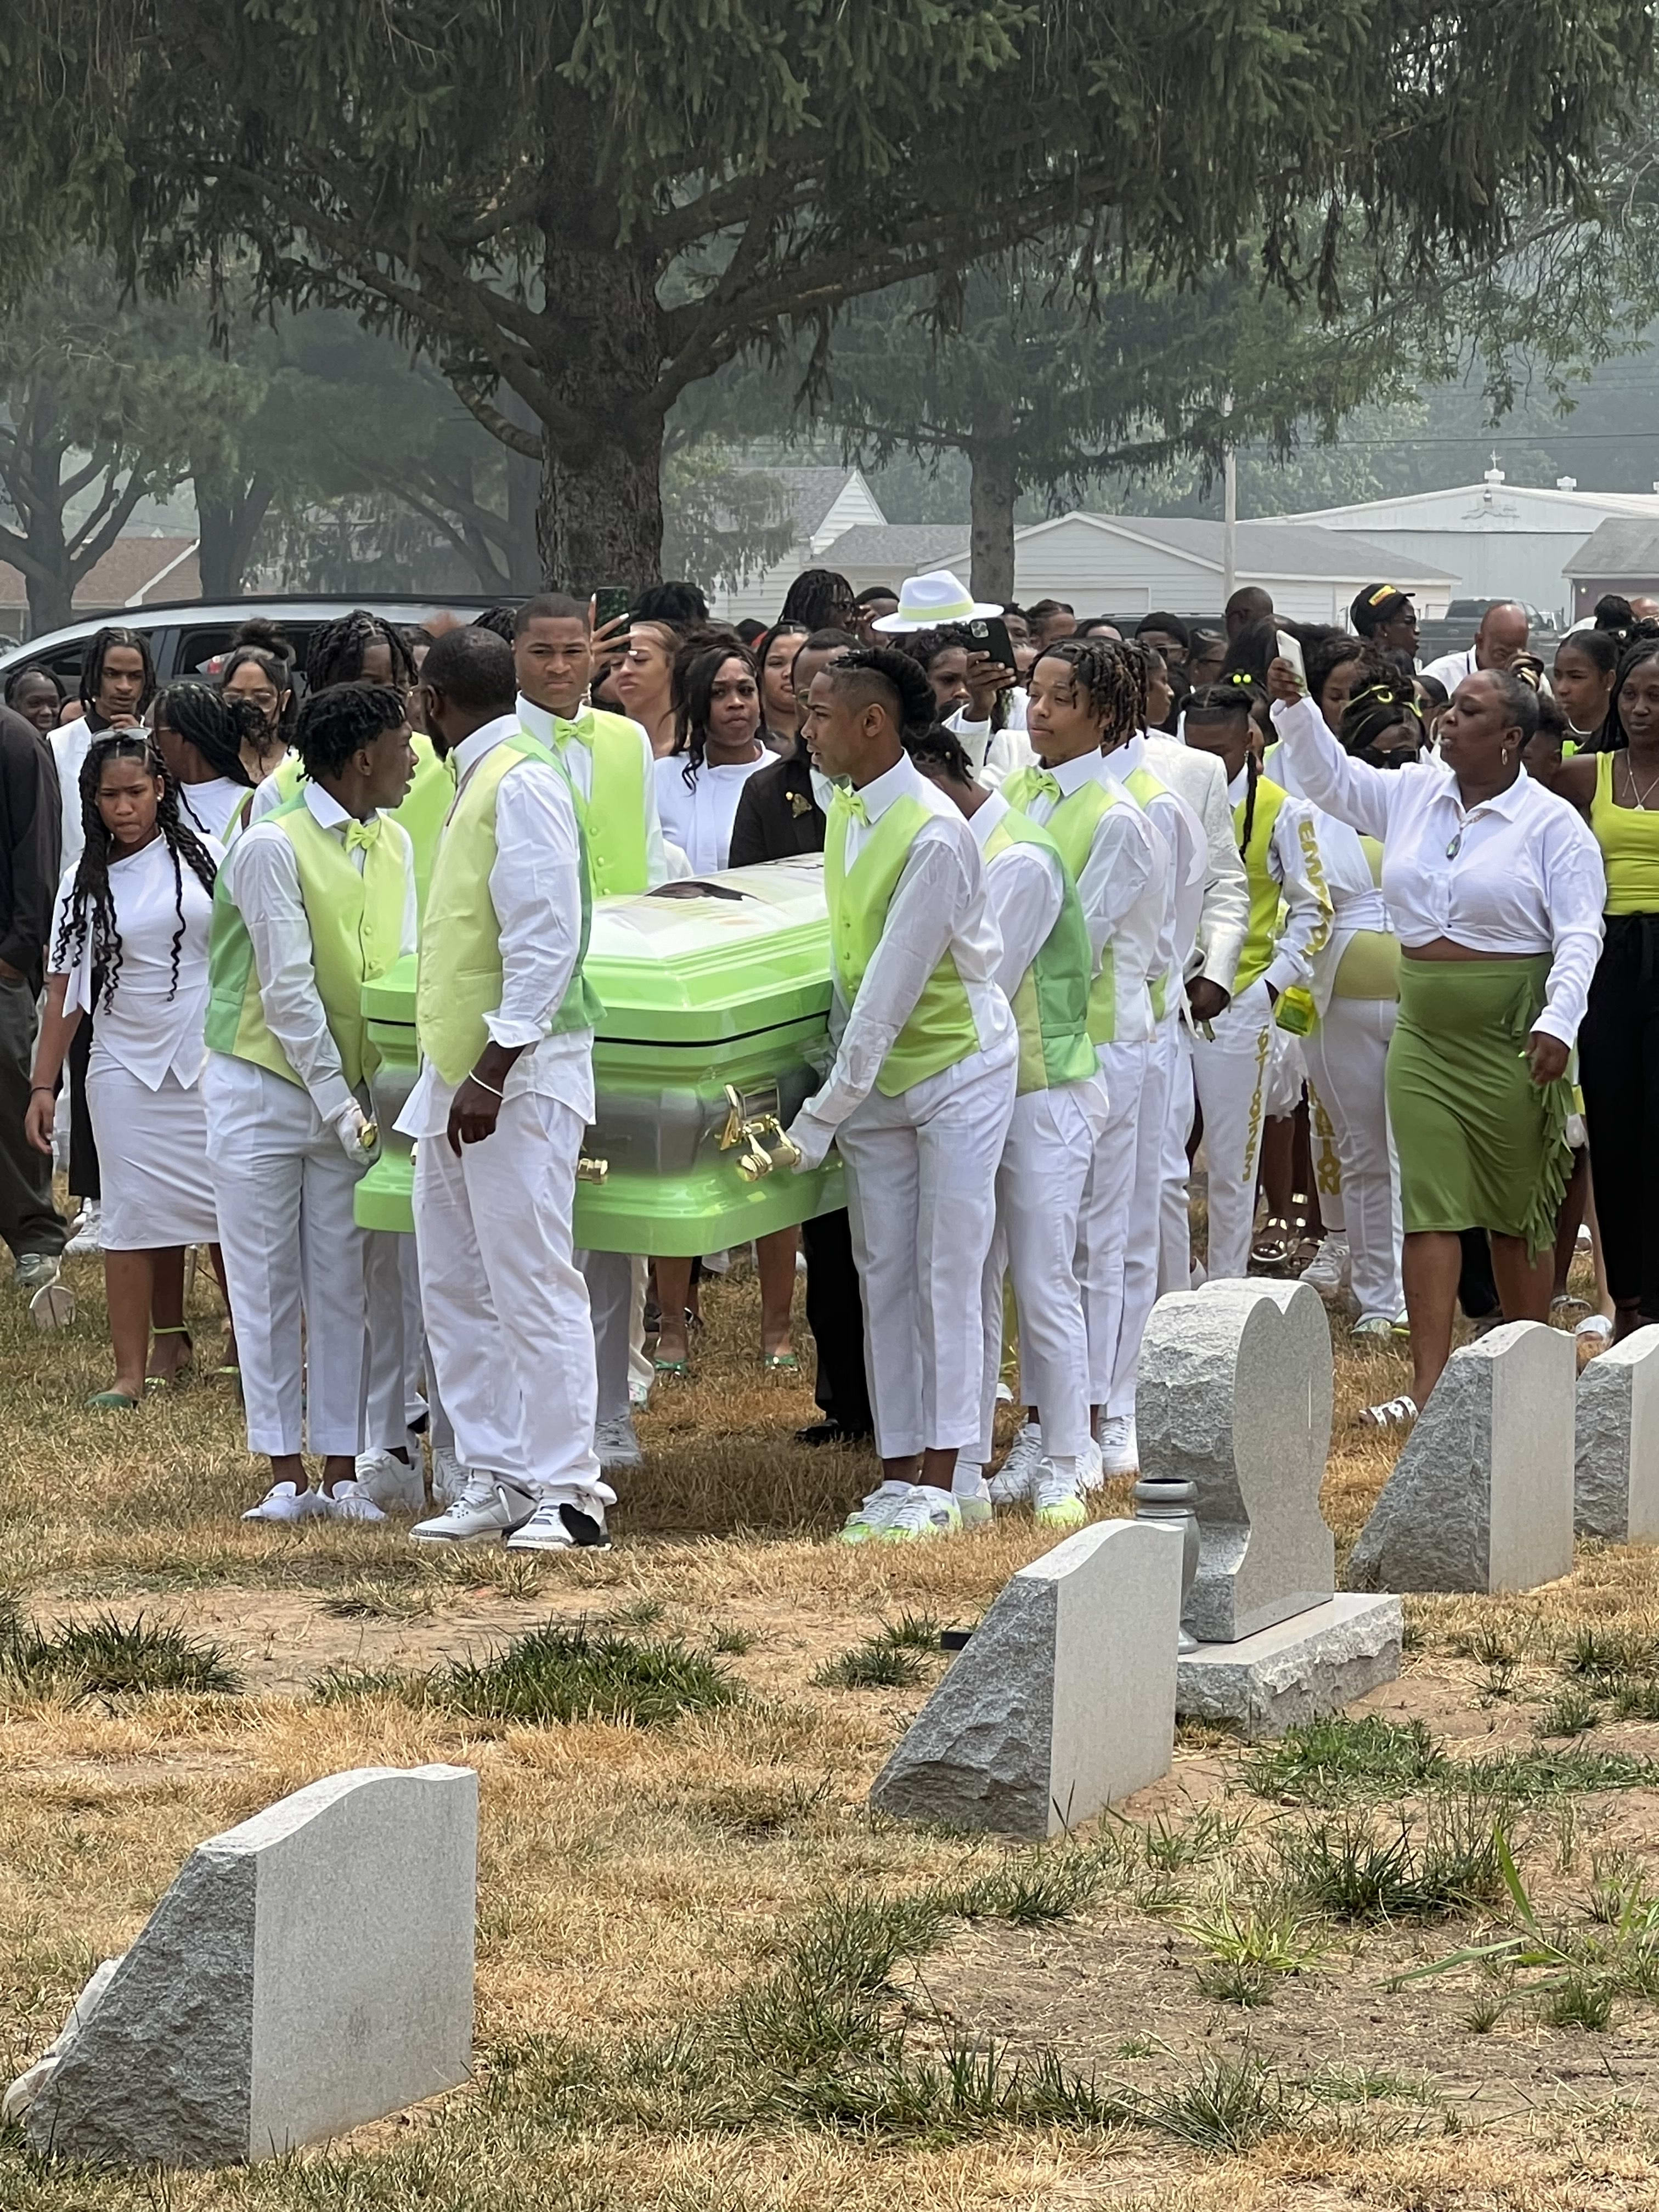
[[[416,1139],[420,1305],[467,1484],[427,1544],[606,1544],[593,1449],[593,1323],[571,1252],[593,1119],[588,887],[564,770],[520,728],[513,653],[449,630],[420,670],[456,770],[420,925]]]

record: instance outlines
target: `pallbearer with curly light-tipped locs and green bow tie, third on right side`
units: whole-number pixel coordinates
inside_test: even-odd
[[[1110,1396],[1124,1307],[1124,1250],[1135,1181],[1135,1139],[1152,1051],[1152,980],[1166,927],[1170,847],[1139,801],[1106,768],[1104,745],[1139,732],[1137,664],[1106,639],[1062,637],[1031,668],[1026,732],[1037,768],[1002,785],[1009,805],[1048,830],[1073,874],[1088,925],[1093,975],[1088,1037],[1106,1077],[1108,1115],[1077,1217],[1077,1276],[1088,1329],[1088,1418]],[[1042,1469],[1042,1436],[1026,1422],[991,1495],[1029,1498]],[[1088,1478],[1099,1482],[1091,1453]]]

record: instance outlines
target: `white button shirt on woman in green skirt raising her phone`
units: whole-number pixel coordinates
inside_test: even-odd
[[[1303,790],[1383,841],[1383,898],[1407,949],[1449,938],[1471,953],[1553,953],[1533,1029],[1573,1044],[1601,953],[1606,874],[1590,825],[1522,774],[1464,812],[1440,761],[1371,768],[1336,743],[1307,699],[1272,710]]]

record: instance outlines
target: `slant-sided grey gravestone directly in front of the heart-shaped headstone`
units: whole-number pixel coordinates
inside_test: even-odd
[[[1055,1836],[1168,1774],[1181,1540],[1095,1522],[1022,1566],[876,1776],[907,1820]]]

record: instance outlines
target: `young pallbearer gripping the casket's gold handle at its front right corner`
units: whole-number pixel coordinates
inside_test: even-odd
[[[803,1168],[832,1144],[847,1164],[883,1462],[847,1542],[962,1528],[951,1480],[980,1436],[978,1283],[1020,1057],[973,832],[902,745],[931,721],[902,653],[849,653],[807,695],[812,763],[847,787],[823,849],[836,1060],[790,1135]]]

